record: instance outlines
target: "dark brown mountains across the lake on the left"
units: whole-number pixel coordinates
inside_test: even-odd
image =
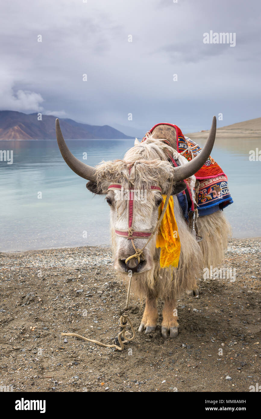
[[[52,115],[42,115],[42,120],[38,121],[37,113],[0,111],[0,140],[54,140],[55,119]],[[59,121],[65,140],[133,138],[109,125],[80,124],[72,119],[62,118]]]

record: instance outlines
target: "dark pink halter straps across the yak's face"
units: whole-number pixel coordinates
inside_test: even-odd
[[[108,186],[108,191],[112,189],[114,191],[121,190],[121,184],[111,184]],[[152,191],[160,191],[161,188],[159,186],[150,186]],[[128,239],[140,238],[140,237],[150,237],[152,235],[152,231],[136,231],[133,229],[133,221],[134,221],[134,194],[135,189],[128,189],[128,197],[127,197],[127,211],[128,211],[128,230],[115,230],[115,233],[121,237],[125,237]]]

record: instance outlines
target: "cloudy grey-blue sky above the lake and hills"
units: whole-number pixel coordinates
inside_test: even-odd
[[[260,15],[259,0],[1,2],[0,109],[137,136],[260,117]],[[210,31],[235,33],[235,46],[205,44]]]

